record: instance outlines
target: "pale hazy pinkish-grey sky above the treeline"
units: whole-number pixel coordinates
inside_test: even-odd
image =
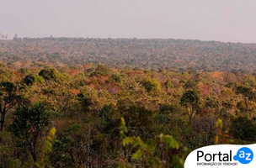
[[[255,0],[0,0],[0,33],[256,43]]]

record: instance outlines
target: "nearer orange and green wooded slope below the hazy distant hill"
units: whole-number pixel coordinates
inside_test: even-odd
[[[40,165],[44,151],[54,167],[182,167],[189,150],[256,141],[253,75],[92,64],[0,71],[1,167]]]

